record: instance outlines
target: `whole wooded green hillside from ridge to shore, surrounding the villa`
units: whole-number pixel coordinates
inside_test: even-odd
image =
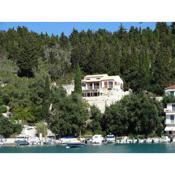
[[[133,96],[107,108],[104,115],[95,107],[89,112],[78,82],[81,76],[96,73],[120,75],[125,89],[132,89]],[[175,23],[157,23],[154,30],[137,27],[126,30],[122,25],[116,32],[73,29],[70,36],[38,34],[26,27],[0,31],[0,115],[5,110],[3,105],[10,106],[13,115],[10,124],[14,127],[8,136],[19,133],[21,126],[16,120],[47,121],[48,127],[60,135],[86,131],[161,134],[161,104],[146,94],[163,95],[164,87],[175,83],[174,75]],[[77,92],[66,96],[61,85],[72,79],[77,82]],[[52,82],[60,87],[50,89]],[[132,106],[138,106],[140,112],[135,113]],[[150,115],[145,115],[150,114],[150,108],[156,124],[148,120]],[[128,113],[123,115],[126,111],[133,112],[132,120]],[[0,119],[2,126],[9,122]],[[125,128],[120,128],[121,125]]]

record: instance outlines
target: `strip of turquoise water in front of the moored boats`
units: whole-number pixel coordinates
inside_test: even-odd
[[[0,153],[175,153],[175,144],[107,144],[79,148],[65,146],[0,147]]]

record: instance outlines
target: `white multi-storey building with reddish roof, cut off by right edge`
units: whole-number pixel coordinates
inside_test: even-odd
[[[165,88],[165,95],[172,95],[175,97],[175,85]],[[175,136],[175,103],[168,103],[164,112],[166,114],[165,131],[168,135]]]

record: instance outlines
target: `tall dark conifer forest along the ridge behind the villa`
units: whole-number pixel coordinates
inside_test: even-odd
[[[175,82],[175,23],[157,23],[154,30],[127,31],[122,25],[116,32],[73,29],[69,37],[18,27],[0,31],[0,58],[15,62],[20,77],[35,76],[43,61],[52,80],[65,79],[79,64],[85,74],[119,74],[126,88],[161,95]]]

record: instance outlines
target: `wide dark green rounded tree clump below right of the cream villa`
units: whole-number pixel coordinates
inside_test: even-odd
[[[151,96],[131,94],[106,109],[103,128],[117,135],[161,135],[162,113],[161,104]]]

